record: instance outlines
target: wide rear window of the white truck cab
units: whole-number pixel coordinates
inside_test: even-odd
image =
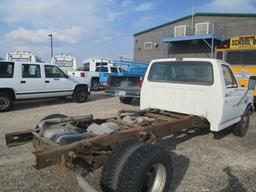
[[[203,61],[158,62],[151,66],[149,81],[212,85],[212,64]]]

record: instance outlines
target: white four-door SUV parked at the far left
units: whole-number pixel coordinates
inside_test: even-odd
[[[88,81],[69,77],[53,64],[0,61],[0,112],[15,100],[72,96],[81,103],[89,93]]]

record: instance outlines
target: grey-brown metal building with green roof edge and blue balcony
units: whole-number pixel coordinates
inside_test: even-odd
[[[232,36],[256,33],[256,14],[196,13],[134,34],[134,59],[214,57]]]

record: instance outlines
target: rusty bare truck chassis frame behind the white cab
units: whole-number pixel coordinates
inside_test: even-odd
[[[151,124],[130,125],[118,118],[123,114],[154,118],[155,121]],[[114,122],[121,127],[119,131],[98,136],[92,134],[89,139],[72,142],[67,145],[54,143],[48,138],[41,136],[37,129],[6,134],[6,144],[9,147],[28,142],[33,143],[36,169],[42,169],[59,163],[61,167],[74,171],[83,168],[83,173],[86,174],[101,167],[107,160],[113,147],[123,141],[130,140],[154,144],[158,139],[164,139],[182,130],[209,128],[208,121],[198,116],[172,113],[158,109],[120,111],[117,118],[93,119],[92,115],[87,115],[82,117],[53,118],[52,120],[55,122],[53,126],[64,125],[70,128],[102,122]],[[40,123],[37,125],[37,128],[39,125]]]

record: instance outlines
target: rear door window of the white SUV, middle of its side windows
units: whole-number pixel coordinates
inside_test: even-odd
[[[40,65],[22,64],[22,78],[41,78]]]

